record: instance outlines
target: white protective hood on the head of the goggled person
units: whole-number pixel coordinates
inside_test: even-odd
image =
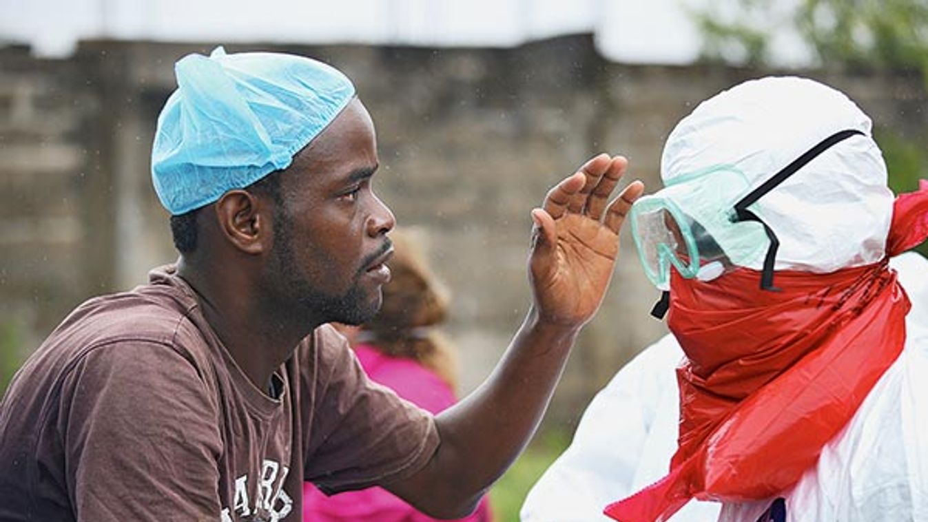
[[[831,146],[761,197],[754,212],[780,239],[776,270],[828,273],[883,259],[893,215],[886,166],[870,118],[846,95],[795,77],[741,83],[709,98],[677,124],[661,161],[664,183],[727,166],[763,184],[825,137],[862,135]],[[706,176],[700,183],[713,183]],[[724,202],[719,202],[724,203]],[[763,255],[749,263],[760,269]]]

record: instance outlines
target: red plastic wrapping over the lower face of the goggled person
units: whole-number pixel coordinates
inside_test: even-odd
[[[928,236],[928,183],[896,199],[887,254]],[[831,274],[780,271],[771,292],[741,268],[708,283],[672,271],[667,325],[680,433],[670,473],[605,513],[664,521],[691,498],[767,499],[793,486],[857,412],[905,343],[909,299],[887,261]]]

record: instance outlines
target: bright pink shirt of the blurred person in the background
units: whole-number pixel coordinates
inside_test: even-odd
[[[391,357],[365,344],[354,349],[367,376],[392,388],[397,395],[437,414],[457,401],[454,392],[432,370],[411,359]],[[435,520],[382,488],[367,488],[327,497],[309,482],[303,486],[303,521],[338,522],[431,522]],[[490,509],[484,498],[466,522],[489,522]]]

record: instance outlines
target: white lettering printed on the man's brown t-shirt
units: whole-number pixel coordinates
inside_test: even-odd
[[[282,468],[282,469],[281,469]],[[278,475],[279,472],[279,475]],[[249,502],[248,474],[235,479],[235,497],[232,499],[232,511],[223,508],[221,522],[254,521],[278,522],[290,515],[293,499],[283,489],[284,479],[290,468],[276,461],[264,459],[261,477],[253,491],[254,502]],[[252,483],[253,484],[253,483]],[[252,486],[254,488],[255,486]],[[235,518],[232,514],[235,514]],[[248,518],[243,518],[248,516]]]

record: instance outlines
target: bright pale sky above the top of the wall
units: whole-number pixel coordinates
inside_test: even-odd
[[[77,40],[94,37],[510,46],[594,32],[599,51],[612,60],[673,64],[699,53],[686,7],[711,1],[0,0],[0,39],[67,56]],[[796,59],[795,49],[784,48],[781,61]]]

